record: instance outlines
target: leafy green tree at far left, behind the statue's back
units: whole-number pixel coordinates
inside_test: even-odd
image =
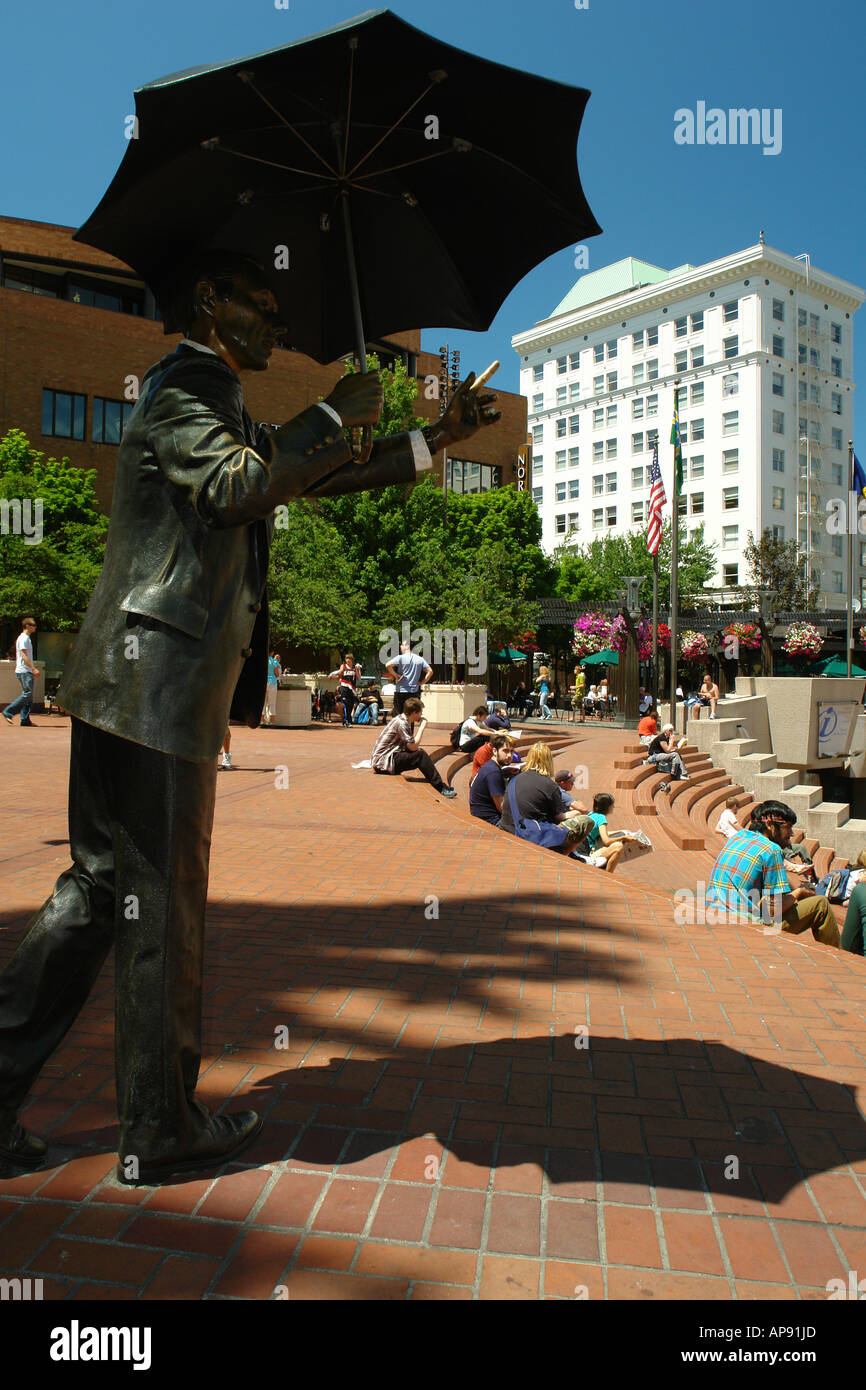
[[[4,649],[25,612],[44,628],[74,631],[81,626],[106,543],[107,517],[99,509],[95,477],[95,468],[85,471],[68,459],[46,457],[21,430],[0,439]]]

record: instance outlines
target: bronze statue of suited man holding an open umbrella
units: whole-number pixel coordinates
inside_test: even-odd
[[[498,286],[475,285],[482,263],[470,256],[461,265],[441,222],[446,189],[460,195],[461,217],[474,215],[492,197],[482,170],[492,161],[506,189],[524,177],[539,199],[544,192],[538,161],[518,175],[514,150],[505,164],[487,149],[480,158],[455,133],[448,152],[461,167],[445,183],[434,177],[428,196],[423,165],[431,157],[423,146],[418,154],[417,131],[405,115],[382,124],[382,101],[400,96],[396,78],[384,95],[382,51],[403,85],[427,74],[423,95],[460,88],[453,110],[441,100],[445,126],[449,110],[470,117],[466,83],[474,79],[481,99],[480,72],[495,70],[487,76],[499,85],[510,72],[381,11],[243,64],[152,83],[136,93],[140,139],[78,234],[136,265],[165,331],[185,336],[146,374],[126,423],[104,567],[64,673],[72,866],[0,974],[3,1170],[44,1162],[46,1144],[18,1112],[111,945],[118,1180],[161,1183],[222,1165],[261,1129],[252,1111],[210,1113],[195,1091],[215,759],[229,716],[256,726],[261,712],[274,510],[293,498],[411,482],[432,453],[495,424],[496,398],[474,391],[470,375],[434,425],[353,449],[345,431],[370,430],[382,409],[381,382],[363,370],[364,313],[374,334],[406,324],[488,327],[527,247],[512,270],[491,267],[485,279],[498,275]],[[588,93],[512,78],[559,95],[575,138]],[[267,108],[264,128],[250,101]],[[341,118],[332,101],[343,103]],[[388,152],[378,170],[370,168],[374,152]],[[250,186],[245,167],[239,183],[239,165],[260,168],[261,178]],[[549,249],[550,238],[563,245],[598,229],[573,152],[566,188],[545,193]],[[332,213],[342,222],[336,243]],[[428,282],[403,295],[418,243],[430,253]],[[296,249],[293,277],[272,268],[277,245]],[[278,342],[322,361],[354,342],[361,373],[279,428],[254,425],[240,377],[265,370]]]

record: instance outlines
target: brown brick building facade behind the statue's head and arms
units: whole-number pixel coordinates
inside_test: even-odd
[[[17,427],[36,449],[96,468],[108,510],[135,382],[178,336],[163,334],[143,281],[113,256],[74,242],[72,231],[0,218],[0,436]],[[425,399],[424,384],[439,378],[441,364],[438,354],[421,352],[421,334],[395,332],[368,348],[379,352],[384,366],[398,354],[406,361],[420,384],[416,413],[435,418],[439,403]],[[471,366],[481,371],[487,363]],[[342,363],[322,367],[277,349],[267,373],[245,377],[246,406],[254,420],[282,423],[327,395],[342,373]],[[518,450],[527,452],[527,403],[499,392],[498,409],[500,424],[456,450],[449,480],[459,491],[517,481]],[[434,460],[439,482],[445,463],[442,453]]]

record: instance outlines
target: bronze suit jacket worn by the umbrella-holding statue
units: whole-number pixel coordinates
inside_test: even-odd
[[[229,713],[259,724],[274,509],[416,477],[407,434],[352,463],[320,406],[253,425],[222,357],[181,343],[149,370],[118,452],[103,571],[63,708],[178,758],[215,758]]]

